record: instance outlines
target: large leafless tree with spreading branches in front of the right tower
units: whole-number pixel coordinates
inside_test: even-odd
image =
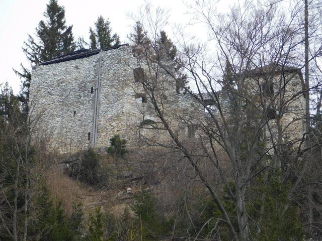
[[[274,176],[280,183],[294,179],[290,198],[311,158],[308,153],[312,145],[306,141],[311,132],[308,92],[318,84],[308,85],[302,69],[320,55],[321,46],[311,48],[314,52],[310,58],[306,56],[302,61],[301,56],[307,40],[319,38],[321,25],[312,24],[314,30],[304,35],[303,25],[297,21],[304,12],[303,4],[295,3],[288,14],[279,11],[279,4],[263,7],[245,2],[225,15],[218,15],[211,1],[189,6],[195,18],[208,28],[210,41],[208,45],[198,45],[182,38],[179,43],[191,83],[191,88],[182,88],[190,97],[187,101],[195,106],[183,112],[173,110],[173,105],[187,96],[169,91],[173,80],[180,82],[173,69],[178,63],[173,63],[157,46],[164,13],[158,9],[153,15],[150,6],[146,6],[137,19],[149,40],[136,55],[138,67],[144,71],[141,83],[148,102],[145,108],[154,111],[154,121],[148,126],[165,129],[171,141],[146,140],[183,153],[222,213],[218,222],[229,227],[234,240],[255,238],[254,227],[260,235],[269,211],[265,210],[267,196],[263,190],[273,183]],[[214,46],[215,51],[211,51]],[[198,152],[192,151],[182,135],[182,130],[191,125],[198,127]],[[220,151],[226,153],[228,164],[219,157]],[[223,204],[222,185],[212,183],[205,175],[200,168],[203,162],[217,170],[214,175],[219,176],[235,205],[237,225]],[[224,170],[227,165],[228,174]],[[251,193],[256,186],[260,186],[262,194],[254,215],[249,205],[254,201]],[[285,201],[282,205],[281,215],[286,215],[290,204]]]

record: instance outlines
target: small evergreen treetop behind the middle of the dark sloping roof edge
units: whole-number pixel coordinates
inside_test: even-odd
[[[117,34],[111,36],[110,24],[111,22],[105,20],[103,16],[98,17],[94,29],[90,28],[91,49],[103,49],[120,44],[120,37]]]

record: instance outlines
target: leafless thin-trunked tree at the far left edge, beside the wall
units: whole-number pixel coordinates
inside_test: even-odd
[[[12,90],[0,96],[0,228],[3,238],[27,240],[30,201],[35,186],[31,133],[33,122],[21,112]]]

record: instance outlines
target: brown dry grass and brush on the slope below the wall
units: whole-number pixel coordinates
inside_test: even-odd
[[[198,151],[195,154],[198,154]],[[222,166],[227,170],[226,157],[224,154],[220,156]],[[142,188],[154,186],[153,192],[158,209],[164,213],[176,210],[184,197],[189,199],[207,193],[191,165],[178,151],[169,153],[161,148],[150,148],[130,151],[125,159],[106,154],[99,155],[99,158],[104,183],[96,187],[68,177],[59,165],[53,165],[47,170],[46,183],[53,198],[57,197],[62,201],[68,216],[72,214],[72,205],[75,201],[83,203],[85,218],[96,206],[102,206],[114,216],[120,216],[123,209],[134,201],[133,198],[126,200],[117,198],[117,194],[127,187],[131,187],[135,193]],[[218,174],[209,160],[204,159],[198,165],[213,184],[221,186]],[[125,178],[124,173],[130,173],[131,176]],[[135,177],[144,178],[138,182],[131,181],[131,178]]]

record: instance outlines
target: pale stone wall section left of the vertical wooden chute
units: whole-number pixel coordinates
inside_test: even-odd
[[[86,148],[92,132],[98,56],[40,65],[30,84],[31,117],[39,118],[38,138],[68,152]],[[74,112],[75,111],[75,112]],[[74,114],[75,113],[75,114]]]

